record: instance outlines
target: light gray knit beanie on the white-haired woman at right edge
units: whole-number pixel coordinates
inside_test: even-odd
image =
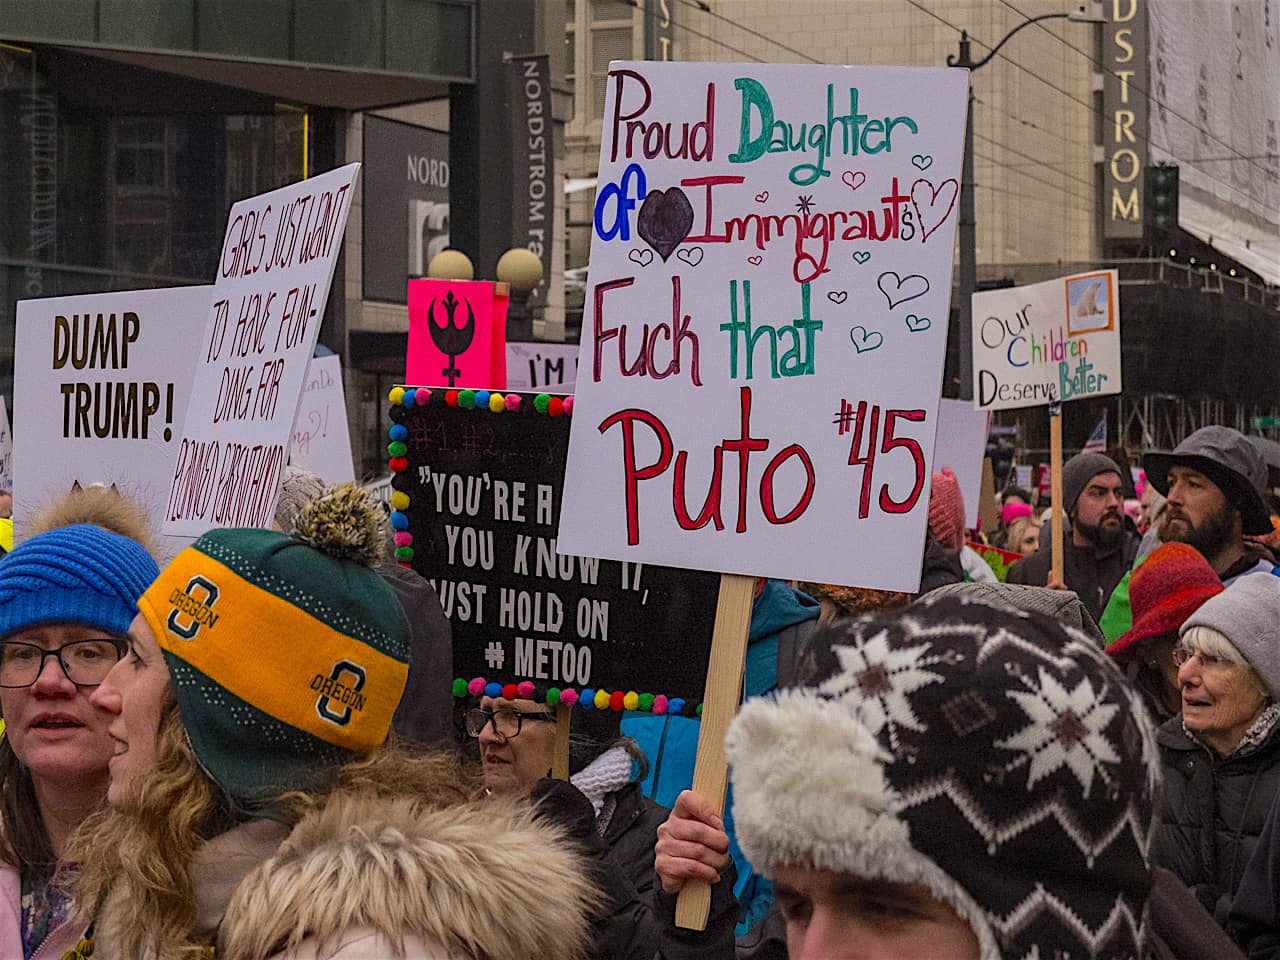
[[[1257,671],[1267,694],[1280,700],[1280,577],[1242,576],[1204,600],[1183,623],[1181,635],[1192,627],[1208,627],[1225,636]]]

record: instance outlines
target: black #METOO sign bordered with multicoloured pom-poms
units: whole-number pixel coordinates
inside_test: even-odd
[[[692,714],[719,577],[556,552],[572,401],[392,399],[397,556],[453,625],[454,695],[516,685],[512,698]]]

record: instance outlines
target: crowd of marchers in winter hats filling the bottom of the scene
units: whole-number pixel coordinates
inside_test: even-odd
[[[1011,490],[1000,582],[940,468],[919,593],[760,580],[723,813],[695,718],[579,707],[553,780],[552,708],[453,698],[358,488],[168,562],[77,488],[0,558],[0,957],[1280,957],[1267,467],[1142,466],[1064,466],[1061,577]]]

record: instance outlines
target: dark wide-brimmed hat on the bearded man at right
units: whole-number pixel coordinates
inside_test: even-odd
[[[1212,480],[1235,509],[1240,511],[1243,531],[1261,536],[1271,532],[1271,512],[1266,504],[1267,465],[1244,434],[1229,426],[1202,426],[1172,453],[1153,452],[1142,458],[1147,479],[1169,495],[1171,467],[1189,467]]]

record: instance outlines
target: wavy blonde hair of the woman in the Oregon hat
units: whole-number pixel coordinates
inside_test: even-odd
[[[388,742],[340,768],[334,788],[444,806],[476,799],[479,783],[452,755],[410,754]],[[294,823],[323,806],[325,796],[285,794],[260,813]],[[108,931],[122,956],[188,960],[192,951],[211,946],[196,931],[191,868],[200,847],[232,826],[225,797],[200,768],[182,716],[170,708],[154,768],[122,809],[93,814],[70,840],[65,859],[79,864],[73,878],[77,915]]]

